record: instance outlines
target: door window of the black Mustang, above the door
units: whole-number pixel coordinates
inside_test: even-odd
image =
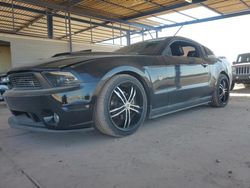
[[[176,41],[170,45],[170,51],[172,56],[181,56],[181,57],[201,57],[200,52],[196,45],[183,42]]]

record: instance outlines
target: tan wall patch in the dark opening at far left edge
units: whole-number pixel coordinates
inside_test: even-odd
[[[11,53],[9,46],[0,45],[0,74],[11,68]]]

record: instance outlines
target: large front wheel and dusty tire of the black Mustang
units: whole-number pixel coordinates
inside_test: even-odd
[[[133,134],[147,114],[147,96],[136,78],[120,74],[112,77],[97,97],[94,127],[103,134],[123,137]]]

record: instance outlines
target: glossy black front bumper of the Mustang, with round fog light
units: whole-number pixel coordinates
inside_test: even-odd
[[[4,98],[13,114],[9,124],[37,130],[90,127],[95,86],[95,83],[84,83],[70,88],[8,90]]]

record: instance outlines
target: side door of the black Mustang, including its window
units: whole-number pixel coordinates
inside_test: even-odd
[[[169,106],[185,107],[210,94],[209,64],[204,62],[202,50],[196,43],[185,40],[172,41],[164,54],[168,72],[172,72],[168,92]]]

